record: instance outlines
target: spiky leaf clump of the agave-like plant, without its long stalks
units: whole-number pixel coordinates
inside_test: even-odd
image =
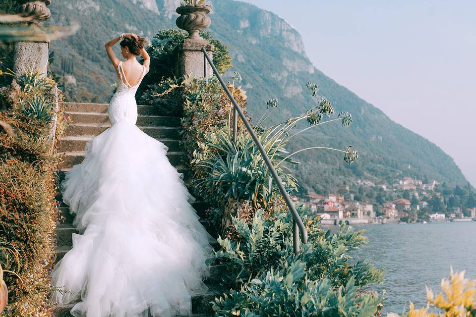
[[[260,137],[266,153],[271,158],[287,190],[297,190],[297,180],[289,167],[279,166],[282,159],[295,163],[283,155],[287,154],[284,144],[273,142],[263,134]],[[210,171],[206,177],[195,180],[199,185],[203,184],[211,188],[217,198],[246,199],[252,201],[255,207],[258,203],[267,205],[277,187],[271,171],[261,159],[258,147],[248,133],[240,131],[235,143],[232,141],[230,128],[227,125],[209,134],[207,140],[199,143],[198,146],[201,151],[194,152],[191,163]]]

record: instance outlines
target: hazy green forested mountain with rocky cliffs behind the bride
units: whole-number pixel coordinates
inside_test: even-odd
[[[153,37],[158,29],[176,28],[179,0],[85,0],[52,1],[50,24],[79,23],[79,32],[54,41],[52,70],[60,73],[59,58],[74,61],[78,84],[76,101],[107,102],[115,73],[104,44],[122,32]],[[349,111],[354,122],[312,128],[291,144],[293,150],[309,146],[357,149],[359,159],[347,165],[342,155],[311,150],[296,156],[301,185],[327,192],[345,180],[369,179],[393,182],[403,176],[427,177],[440,182],[466,185],[468,181],[454,160],[423,137],[393,122],[381,110],[360,99],[312,65],[299,33],[272,12],[233,0],[207,1],[214,7],[210,31],[223,41],[234,57],[234,68],[248,95],[248,111],[257,119],[271,98],[280,101],[297,94],[306,82],[317,83],[336,113]],[[323,49],[325,49],[323,47]],[[231,72],[228,74],[230,78]],[[315,106],[307,92],[280,103],[269,123],[285,120]],[[410,114],[409,114],[410,115]]]

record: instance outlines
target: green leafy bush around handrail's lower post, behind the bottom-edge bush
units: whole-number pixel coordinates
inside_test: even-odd
[[[296,259],[305,263],[310,278],[328,278],[335,286],[346,284],[351,277],[356,285],[380,282],[382,270],[363,261],[350,263],[348,253],[366,243],[363,230],[343,225],[331,234],[319,227],[316,217],[303,215],[302,206],[299,211],[307,224],[309,242],[302,245],[298,256],[293,251],[292,218],[284,209],[277,209],[268,219],[258,210],[249,225],[235,217],[239,239],[218,238],[221,250],[215,252],[217,263],[226,267],[221,274],[223,284],[236,287],[263,270],[279,269]]]

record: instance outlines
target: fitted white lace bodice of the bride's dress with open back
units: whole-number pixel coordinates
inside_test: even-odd
[[[146,73],[145,67],[142,65],[142,75],[139,82],[134,86],[131,86],[125,77],[124,70],[122,69],[122,61],[118,64],[118,73],[118,89],[108,107],[109,119],[111,120],[112,125],[124,119],[135,124],[137,121],[135,93],[137,92],[137,88],[139,88],[142,79],[144,79]]]

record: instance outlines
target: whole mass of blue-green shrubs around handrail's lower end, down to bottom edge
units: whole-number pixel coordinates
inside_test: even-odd
[[[217,316],[337,316],[341,309],[348,316],[376,314],[383,299],[357,296],[357,290],[380,282],[383,270],[363,261],[351,263],[348,255],[365,243],[363,231],[342,226],[331,234],[315,218],[303,220],[309,242],[296,256],[289,213],[277,211],[266,220],[258,210],[250,226],[233,219],[239,241],[219,238],[222,249],[215,252],[224,268],[222,282],[232,288],[216,299]]]

